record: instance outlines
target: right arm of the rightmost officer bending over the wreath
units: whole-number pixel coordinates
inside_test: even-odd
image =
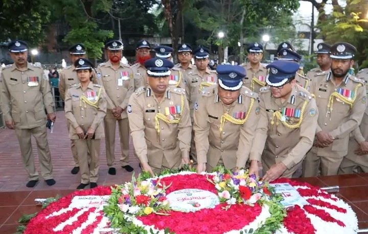
[[[309,115],[309,111],[311,109],[315,110],[315,116]],[[315,128],[317,126],[317,120],[317,105],[315,103],[315,100],[311,99],[304,111],[304,118],[300,126],[300,140],[291,149],[291,151],[287,154],[287,157],[282,162],[288,169],[291,169],[297,163],[301,162],[308,150],[312,147],[315,135]]]

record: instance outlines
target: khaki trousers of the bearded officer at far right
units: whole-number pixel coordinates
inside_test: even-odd
[[[303,162],[303,177],[318,176],[320,169],[320,175],[337,175],[343,157],[338,155],[338,152],[331,151],[331,157],[319,156],[310,150],[307,153],[307,157]]]

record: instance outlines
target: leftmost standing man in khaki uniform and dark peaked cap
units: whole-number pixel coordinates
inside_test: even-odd
[[[53,165],[46,132],[46,116],[55,122],[55,102],[49,77],[41,66],[27,62],[27,43],[15,40],[9,43],[9,54],[14,64],[3,68],[0,76],[0,103],[5,124],[15,129],[23,164],[28,173],[27,187],[34,187],[38,172],[34,164],[31,136],[36,139],[41,175],[46,183],[55,184]]]

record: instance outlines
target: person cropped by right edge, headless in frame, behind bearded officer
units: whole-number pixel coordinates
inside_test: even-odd
[[[368,74],[363,70],[357,77],[368,84]],[[365,90],[365,92],[368,92]],[[348,154],[342,159],[339,174],[368,173],[368,108],[364,110],[359,127],[350,135]]]

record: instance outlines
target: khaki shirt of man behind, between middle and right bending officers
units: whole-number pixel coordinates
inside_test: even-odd
[[[240,66],[246,69],[246,76],[243,79],[243,86],[251,89],[254,92],[259,93],[261,87],[266,85],[267,68],[261,63],[259,69],[254,71],[250,63],[243,63]]]

